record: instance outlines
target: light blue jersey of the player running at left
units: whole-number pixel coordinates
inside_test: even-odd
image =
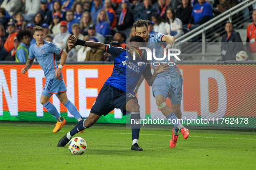
[[[49,41],[44,41],[41,47],[37,47],[35,43],[29,48],[29,60],[36,58],[44,70],[46,79],[57,79],[55,77],[55,70],[58,68],[58,65],[55,60],[55,54],[61,55],[62,49]],[[62,79],[62,76],[58,79]]]

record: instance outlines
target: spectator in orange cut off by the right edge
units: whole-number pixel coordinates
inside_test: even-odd
[[[253,23],[247,27],[246,45],[253,60],[256,60],[256,10],[253,11]]]

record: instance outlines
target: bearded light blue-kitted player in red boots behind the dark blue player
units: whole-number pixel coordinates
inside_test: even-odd
[[[133,25],[136,31],[136,35],[142,37],[144,41],[147,42],[146,47],[149,48],[151,51],[153,51],[153,49],[156,49],[156,58],[163,58],[164,49],[167,52],[167,49],[172,47],[172,44],[175,40],[173,36],[164,34],[149,35],[147,22],[142,19],[139,19]],[[143,51],[143,56],[146,55],[145,52],[146,50]],[[172,56],[168,61],[167,55],[165,59],[161,61],[156,60],[154,59],[154,57],[152,57],[152,60],[148,60],[148,62],[153,68],[155,68],[157,63],[159,62],[165,62],[166,64],[170,62],[175,63]],[[152,84],[152,93],[153,96],[156,98],[156,104],[158,108],[165,115],[165,117],[170,120],[177,120],[177,118],[181,119],[181,93],[183,78],[176,63],[174,66],[169,67],[170,69],[167,69],[169,72],[161,72],[156,76],[156,79]],[[137,92],[139,85],[142,82],[143,77],[138,82],[134,91],[135,93]],[[172,109],[165,104],[167,97],[171,99]],[[169,143],[171,148],[174,148],[177,143],[179,130],[181,131],[184,139],[187,139],[189,136],[188,129],[186,129],[181,124],[176,123],[174,125],[174,129],[172,129],[172,139]]]

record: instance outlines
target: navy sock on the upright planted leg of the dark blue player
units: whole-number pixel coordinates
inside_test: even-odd
[[[138,143],[139,130],[140,130],[140,112],[135,111],[131,113],[131,127],[133,144]]]

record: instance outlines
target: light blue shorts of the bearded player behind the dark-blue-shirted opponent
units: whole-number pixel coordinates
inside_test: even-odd
[[[183,78],[181,76],[172,78],[156,78],[152,84],[152,93],[156,97],[159,94],[169,97],[172,104],[181,104]]]

